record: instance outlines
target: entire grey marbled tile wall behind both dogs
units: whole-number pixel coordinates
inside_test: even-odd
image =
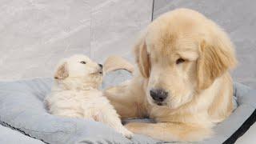
[[[0,80],[50,77],[60,58],[110,54],[133,61],[131,47],[149,22],[153,0],[0,0]],[[154,18],[178,7],[198,10],[234,42],[234,79],[256,88],[254,0],[154,0]]]

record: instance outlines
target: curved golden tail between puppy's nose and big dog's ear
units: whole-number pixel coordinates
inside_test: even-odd
[[[126,59],[112,55],[106,59],[106,62],[103,65],[103,72],[107,74],[108,72],[114,70],[127,70],[133,74],[134,66],[130,62],[126,61]]]

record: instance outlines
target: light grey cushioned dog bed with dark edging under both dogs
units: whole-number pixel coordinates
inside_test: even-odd
[[[131,75],[126,70],[110,72],[102,87],[114,86],[129,78]],[[51,78],[0,82],[0,143],[162,143],[139,134],[131,140],[124,138],[100,122],[48,114],[43,99],[50,92],[52,82]],[[254,123],[256,90],[234,83],[234,101],[237,108],[214,127],[214,137],[198,143],[232,143]]]

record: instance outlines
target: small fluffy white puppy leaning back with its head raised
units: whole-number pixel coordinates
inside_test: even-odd
[[[64,59],[54,74],[54,86],[45,102],[50,114],[72,118],[90,118],[103,122],[131,138],[119,115],[98,87],[102,84],[102,65],[85,55]]]

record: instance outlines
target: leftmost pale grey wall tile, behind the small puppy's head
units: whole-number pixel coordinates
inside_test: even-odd
[[[89,1],[1,2],[1,80],[50,77],[60,58],[90,54]]]

